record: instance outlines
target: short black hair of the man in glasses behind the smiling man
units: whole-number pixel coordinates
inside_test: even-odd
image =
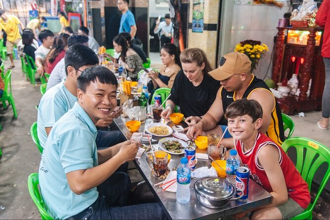
[[[69,38],[70,39],[70,38]],[[88,46],[77,44],[69,47],[64,58],[65,73],[68,75],[68,67],[79,70],[82,66],[97,65],[98,57]]]

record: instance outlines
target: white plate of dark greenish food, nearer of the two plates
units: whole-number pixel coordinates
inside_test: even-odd
[[[184,148],[188,147],[184,141],[177,138],[162,138],[159,140],[158,146],[170,154],[182,154]]]

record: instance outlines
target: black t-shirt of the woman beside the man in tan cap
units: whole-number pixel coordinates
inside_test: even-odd
[[[194,86],[181,70],[174,79],[168,99],[180,106],[185,117],[202,116],[213,104],[219,88],[220,81],[208,74],[204,75],[200,85]]]

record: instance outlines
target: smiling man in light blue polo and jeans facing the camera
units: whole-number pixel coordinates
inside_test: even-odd
[[[78,102],[50,131],[39,181],[54,219],[165,219],[158,203],[124,206],[129,177],[115,171],[135,158],[138,144],[96,148],[95,124],[115,109],[117,86],[116,76],[103,66],[84,70],[78,77]]]

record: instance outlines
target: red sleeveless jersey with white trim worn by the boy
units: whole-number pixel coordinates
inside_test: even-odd
[[[302,179],[293,162],[281,147],[276,145],[269,137],[261,133],[258,133],[254,146],[246,152],[244,152],[242,141],[236,140],[235,145],[237,152],[241,157],[242,163],[248,165],[250,170],[250,178],[252,178],[268,192],[272,192],[273,190],[268,181],[266,172],[258,163],[258,153],[262,147],[267,145],[275,146],[279,150],[279,163],[287,184],[289,193],[288,196],[298,203],[303,209],[307,208],[310,203],[308,185]]]

